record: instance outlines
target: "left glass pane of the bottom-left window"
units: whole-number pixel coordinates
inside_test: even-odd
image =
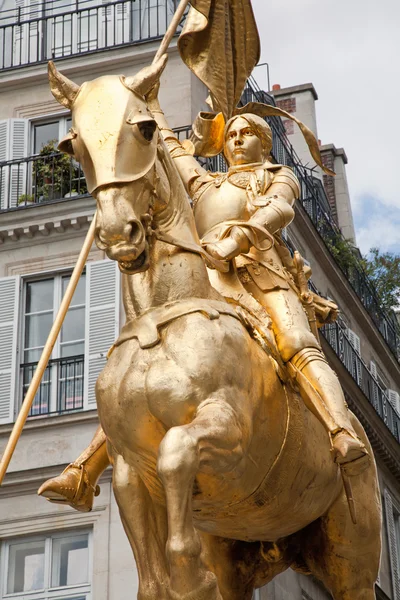
[[[44,588],[44,540],[10,544],[7,593]]]

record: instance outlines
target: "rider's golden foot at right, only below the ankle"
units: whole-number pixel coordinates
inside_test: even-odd
[[[346,475],[359,475],[368,467],[370,458],[364,444],[344,429],[332,439],[335,462],[345,470]]]

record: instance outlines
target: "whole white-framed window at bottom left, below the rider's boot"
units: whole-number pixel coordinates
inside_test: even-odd
[[[5,540],[0,598],[89,600],[91,533]]]

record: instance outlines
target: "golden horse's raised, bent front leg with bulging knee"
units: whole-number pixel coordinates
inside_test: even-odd
[[[242,438],[232,407],[216,396],[200,405],[189,425],[173,427],[162,441],[157,468],[167,501],[166,554],[173,600],[222,599],[215,575],[200,558],[200,537],[192,519],[193,483],[198,471],[232,470],[243,456]]]

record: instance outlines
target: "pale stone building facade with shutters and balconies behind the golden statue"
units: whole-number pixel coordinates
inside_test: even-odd
[[[133,75],[152,60],[173,0],[0,0],[0,451],[10,435],[95,210],[80,166],[56,141],[69,112],[51,96],[46,63],[81,83]],[[175,44],[160,101],[179,136],[205,108],[206,90],[182,64]],[[256,99],[293,112],[316,134],[313,86],[276,89],[250,80]],[[339,118],[339,116],[338,116]],[[400,600],[399,330],[382,311],[360,268],[340,263],[341,236],[355,240],[347,157],[322,146],[334,182],[302,166],[302,140],[290,122],[270,119],[273,157],[292,166],[302,198],[287,230],[289,247],[313,268],[312,282],[341,309],[322,343],[347,401],[374,447],[384,506],[377,597]],[[216,167],[216,163],[210,165]],[[221,160],[218,168],[223,168]],[[119,521],[111,470],[91,513],[45,502],[36,491],[90,441],[97,426],[94,383],[122,323],[116,263],[95,246],[75,293],[30,417],[0,488],[0,600],[130,600],[133,557]],[[262,600],[328,598],[292,571],[256,592]]]

